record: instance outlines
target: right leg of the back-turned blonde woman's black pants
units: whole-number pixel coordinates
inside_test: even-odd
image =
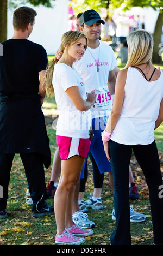
[[[134,146],[133,150],[149,188],[154,243],[163,244],[163,198],[159,197],[162,177],[158,150],[155,141],[149,145]]]

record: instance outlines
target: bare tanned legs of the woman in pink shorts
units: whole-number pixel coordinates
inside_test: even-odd
[[[61,176],[54,197],[54,212],[57,223],[57,234],[73,225],[72,205],[76,184],[83,168],[84,158],[79,156],[62,160]]]

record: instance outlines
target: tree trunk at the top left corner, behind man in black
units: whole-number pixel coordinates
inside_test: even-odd
[[[7,0],[0,0],[0,42],[7,40]]]

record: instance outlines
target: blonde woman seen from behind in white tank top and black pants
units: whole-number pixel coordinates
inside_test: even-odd
[[[127,43],[128,62],[117,76],[114,104],[102,136],[115,189],[116,227],[110,241],[131,245],[128,168],[133,150],[149,187],[154,243],[162,245],[163,186],[154,129],[163,121],[163,72],[151,64],[151,34],[139,29],[128,35]]]

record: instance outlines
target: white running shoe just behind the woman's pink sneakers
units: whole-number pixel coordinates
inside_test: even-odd
[[[87,218],[87,214],[82,211],[74,212],[72,215],[73,222],[80,228],[95,228],[95,222]]]

